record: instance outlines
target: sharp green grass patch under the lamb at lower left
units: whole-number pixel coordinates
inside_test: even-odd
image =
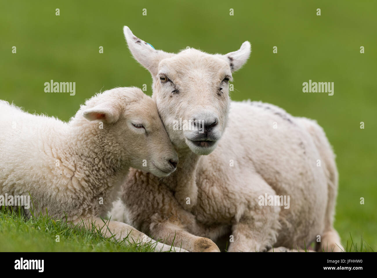
[[[155,248],[128,236],[122,240],[105,237],[95,225],[86,230],[64,219],[45,215],[26,219],[21,212],[0,210],[0,252],[154,252]]]

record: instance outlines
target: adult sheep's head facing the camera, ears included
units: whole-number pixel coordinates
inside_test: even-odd
[[[155,50],[127,26],[123,31],[135,59],[152,74],[152,98],[173,144],[210,154],[227,125],[228,82],[247,61],[250,43],[225,55],[193,48],[173,54]]]

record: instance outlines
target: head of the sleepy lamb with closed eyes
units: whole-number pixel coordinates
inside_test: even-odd
[[[76,117],[102,141],[95,142],[96,153],[107,152],[109,159],[156,176],[167,176],[176,169],[178,156],[156,104],[139,88],[114,88],[97,94]]]

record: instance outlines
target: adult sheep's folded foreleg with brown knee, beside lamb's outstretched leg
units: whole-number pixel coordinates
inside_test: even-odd
[[[211,239],[192,235],[178,225],[159,222],[152,227],[152,233],[163,238],[165,244],[173,244],[190,252],[220,252],[219,247]]]

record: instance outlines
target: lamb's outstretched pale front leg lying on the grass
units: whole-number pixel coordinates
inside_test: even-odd
[[[104,222],[105,221],[105,222]],[[139,232],[134,227],[127,225],[122,222],[113,221],[113,220],[102,220],[98,217],[93,218],[79,218],[73,221],[73,224],[78,226],[84,227],[88,230],[91,230],[93,225],[95,225],[95,229],[98,229],[103,233],[104,236],[110,237],[113,236],[114,239],[123,239],[126,238],[128,235],[128,241],[125,242],[141,242],[141,243],[152,243],[155,246],[155,252],[160,251],[170,251],[176,250],[177,252],[187,252],[181,248],[171,248],[170,246],[163,244],[161,242],[157,242],[150,238],[149,236],[145,235],[142,232]]]

